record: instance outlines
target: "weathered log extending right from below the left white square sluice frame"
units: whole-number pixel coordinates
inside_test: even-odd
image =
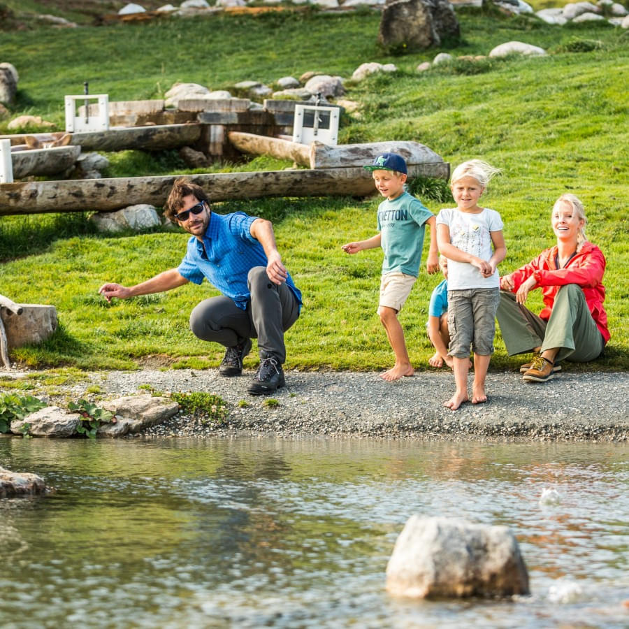
[[[72,143],[84,151],[156,151],[189,146],[200,137],[201,124],[164,124],[73,133]]]

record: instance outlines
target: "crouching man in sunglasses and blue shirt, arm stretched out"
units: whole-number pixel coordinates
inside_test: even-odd
[[[226,347],[219,366],[224,376],[240,375],[251,339],[258,339],[260,366],[247,388],[252,395],[284,386],[284,332],[299,317],[299,291],[277,251],[273,225],[245,212],[212,212],[203,188],[180,178],[166,201],[165,214],[191,234],[178,268],[132,287],[104,284],[107,301],[168,291],[203,277],[222,295],[205,299],[190,314],[191,331]]]

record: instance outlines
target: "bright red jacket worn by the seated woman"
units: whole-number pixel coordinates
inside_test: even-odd
[[[565,284],[577,284],[581,287],[586,303],[598,326],[605,342],[609,340],[607,330],[607,312],[603,308],[605,301],[605,287],[602,276],[605,273],[605,256],[592,243],[583,243],[581,250],[566,264],[565,268],[557,268],[555,257],[557,246],[546,249],[537,258],[514,271],[511,274],[516,292],[520,285],[531,275],[535,277],[537,286],[542,289],[542,296],[546,308],[540,312],[540,317],[548,321],[557,291]]]

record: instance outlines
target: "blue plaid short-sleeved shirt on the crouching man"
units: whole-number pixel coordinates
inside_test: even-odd
[[[238,308],[247,310],[251,297],[247,274],[254,266],[266,267],[268,263],[262,245],[251,235],[251,224],[256,218],[245,212],[226,215],[212,212],[203,244],[194,236],[188,240],[179,273],[194,284],[201,284],[203,277],[207,277],[208,282],[231,297]],[[301,291],[290,275],[286,283],[301,307]]]

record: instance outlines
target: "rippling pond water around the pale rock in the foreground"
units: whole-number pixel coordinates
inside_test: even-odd
[[[57,490],[0,500],[3,628],[629,626],[627,444],[14,438],[0,465]],[[531,595],[391,598],[414,513],[511,527]]]

